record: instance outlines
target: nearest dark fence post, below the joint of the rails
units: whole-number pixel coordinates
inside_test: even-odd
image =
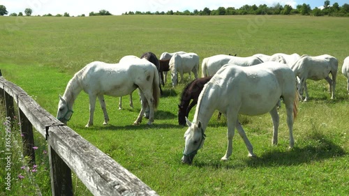
[[[46,128],[48,132],[48,128]],[[50,175],[52,196],[73,195],[71,169],[64,160],[52,149],[50,135],[47,135],[48,154],[50,159]]]

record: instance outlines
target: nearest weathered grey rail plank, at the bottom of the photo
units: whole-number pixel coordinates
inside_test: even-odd
[[[137,176],[67,126],[50,127],[48,133],[52,149],[94,195],[157,195]]]

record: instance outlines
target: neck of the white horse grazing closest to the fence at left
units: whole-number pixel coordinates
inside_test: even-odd
[[[69,107],[73,107],[74,101],[82,91],[82,87],[80,86],[79,77],[74,75],[74,77],[69,80],[66,91],[64,91],[63,98],[68,103]],[[70,108],[71,109],[71,108]]]

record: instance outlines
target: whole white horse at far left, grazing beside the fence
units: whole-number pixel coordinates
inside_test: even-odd
[[[125,96],[139,89],[142,100],[142,109],[134,124],[142,122],[142,116],[147,106],[150,107],[148,124],[154,122],[154,110],[158,106],[160,90],[158,88],[158,70],[153,63],[146,60],[132,61],[131,63],[103,63],[94,61],[75,73],[68,82],[63,96],[59,96],[57,119],[67,123],[73,114],[73,104],[83,90],[89,95],[89,122],[86,127],[94,123],[96,98],[104,114],[104,123],[109,116],[105,107],[104,95]]]

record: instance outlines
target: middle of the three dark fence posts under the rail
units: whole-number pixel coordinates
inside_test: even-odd
[[[28,156],[30,158],[29,164],[35,165],[35,149],[34,149],[34,133],[33,126],[28,120],[27,116],[18,108],[19,120],[20,120],[20,130],[22,133],[23,142],[23,156]]]

